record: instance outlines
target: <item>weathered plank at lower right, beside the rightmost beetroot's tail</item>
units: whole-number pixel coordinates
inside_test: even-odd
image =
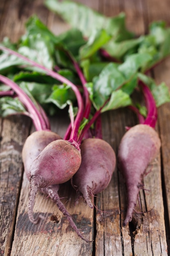
[[[144,214],[135,214],[134,254],[167,255],[164,208],[161,190],[160,157],[148,166],[144,177],[144,191],[141,191],[141,207]]]

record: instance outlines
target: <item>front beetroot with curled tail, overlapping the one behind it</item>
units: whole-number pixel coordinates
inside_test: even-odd
[[[24,145],[24,148],[30,147],[29,140],[26,141],[27,143],[28,146]],[[31,168],[25,170],[31,184],[28,212],[31,222],[36,224],[39,221],[39,218],[36,220],[33,218],[33,205],[38,189],[64,183],[70,180],[78,170],[81,164],[81,154],[78,144],[77,148],[75,145],[75,141],[63,139],[52,141],[34,159]],[[24,153],[23,159],[26,159]]]

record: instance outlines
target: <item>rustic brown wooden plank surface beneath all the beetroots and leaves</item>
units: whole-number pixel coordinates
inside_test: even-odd
[[[166,20],[170,26],[169,0],[77,0],[105,15],[126,13],[126,23],[136,34],[144,34],[153,20]],[[0,40],[8,36],[16,41],[24,33],[24,23],[36,13],[55,33],[69,28],[48,11],[42,0],[0,0]],[[157,66],[152,76],[170,88],[170,58]],[[66,115],[66,114],[65,114]],[[111,111],[102,116],[103,138],[117,148],[125,126],[137,123],[130,110]],[[64,135],[68,119],[64,115],[51,119],[52,130]],[[34,211],[42,212],[46,221],[29,222],[27,204],[29,182],[22,166],[21,151],[31,132],[26,117],[0,119],[0,255],[5,256],[166,256],[170,255],[170,103],[159,108],[157,131],[161,138],[160,154],[144,179],[140,203],[129,227],[123,227],[126,213],[126,190],[121,174],[115,169],[108,188],[97,195],[97,209],[89,209],[68,182],[60,187],[60,195],[75,223],[87,239],[77,237],[57,206],[38,194]]]

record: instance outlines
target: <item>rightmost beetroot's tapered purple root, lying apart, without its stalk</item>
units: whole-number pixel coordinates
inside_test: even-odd
[[[124,175],[128,210],[124,225],[132,220],[137,195],[148,164],[157,156],[161,146],[157,132],[146,124],[138,124],[126,132],[118,151],[118,165]]]

